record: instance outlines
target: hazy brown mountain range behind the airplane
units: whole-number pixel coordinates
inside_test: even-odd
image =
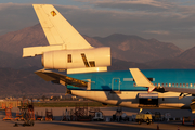
[[[195,47],[184,51],[170,42],[122,34],[83,37],[93,47],[110,47],[112,66],[108,70],[195,68]],[[48,46],[40,24],[0,36],[0,96],[65,91],[64,87],[46,82],[34,74],[42,68],[40,56],[22,58],[23,48],[36,46]]]

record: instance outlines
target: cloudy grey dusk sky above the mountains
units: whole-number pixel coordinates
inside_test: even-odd
[[[195,0],[0,0],[0,35],[38,24],[32,3],[53,4],[89,37],[136,35],[195,47]]]

